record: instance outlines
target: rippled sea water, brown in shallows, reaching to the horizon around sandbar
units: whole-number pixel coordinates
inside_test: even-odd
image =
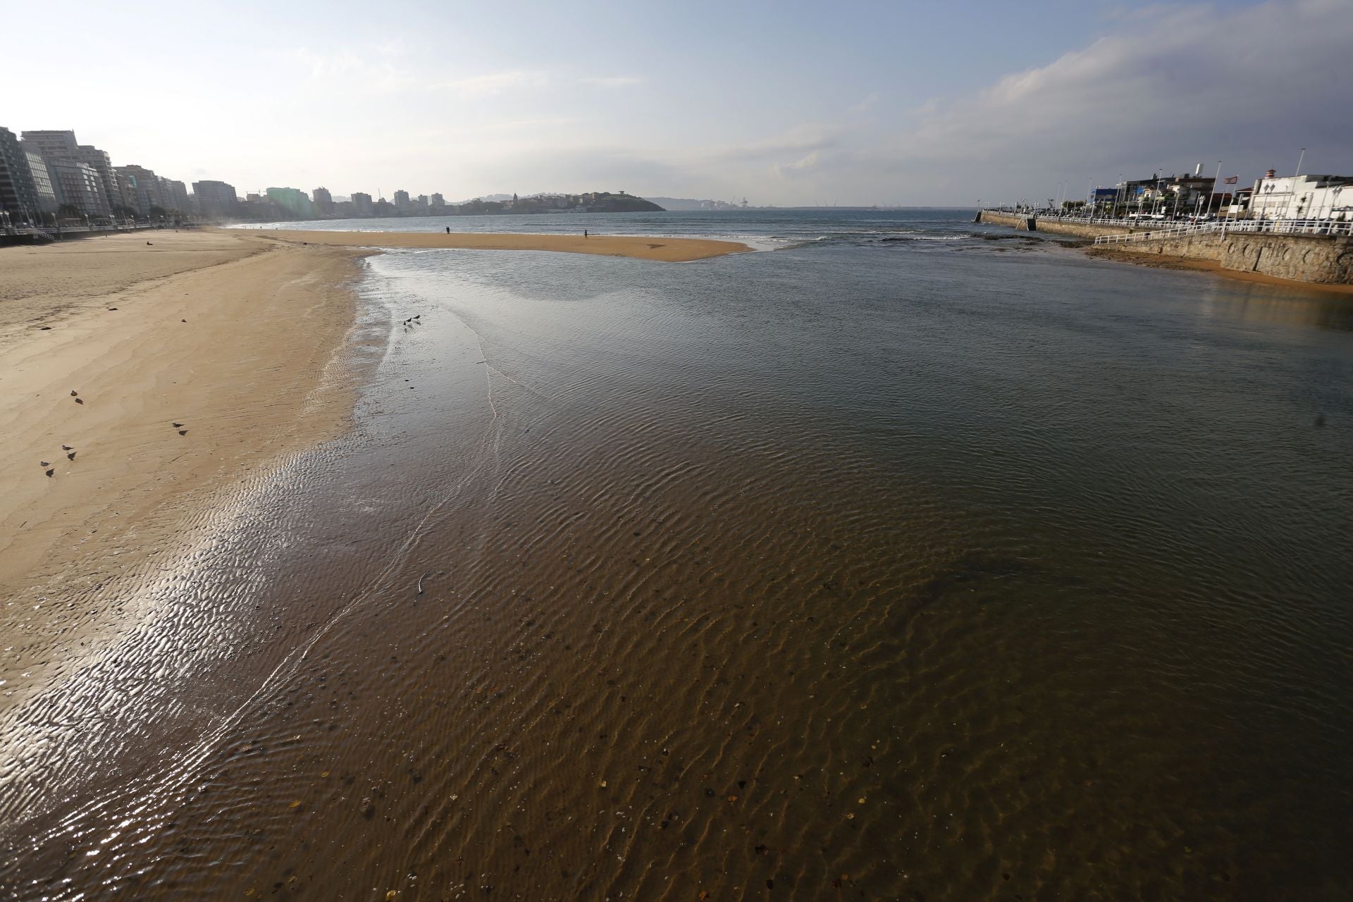
[[[1346,296],[507,219],[773,250],[368,258],[352,433],[5,725],[8,894],[1353,891]]]

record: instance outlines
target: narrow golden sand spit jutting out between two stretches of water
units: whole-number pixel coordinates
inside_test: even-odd
[[[258,234],[279,241],[345,247],[455,247],[460,250],[560,250],[603,257],[637,257],[663,262],[689,262],[751,250],[735,241],[706,238],[660,238],[651,235],[528,235],[453,231],[268,231]]]

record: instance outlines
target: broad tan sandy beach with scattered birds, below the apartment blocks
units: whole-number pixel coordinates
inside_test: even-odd
[[[342,429],[360,256],[189,231],[0,250],[0,711],[122,626],[69,599],[126,595],[214,496]]]

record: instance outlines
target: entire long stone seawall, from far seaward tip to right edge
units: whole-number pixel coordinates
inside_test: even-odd
[[[1051,235],[1097,238],[1153,231],[1112,223],[1070,223],[1022,214],[984,210],[978,222]],[[1160,226],[1155,226],[1158,229]],[[1272,233],[1203,233],[1170,238],[1142,238],[1112,245],[1115,252],[1211,260],[1222,269],[1253,272],[1276,279],[1322,285],[1353,284],[1353,239],[1346,235],[1302,235]]]

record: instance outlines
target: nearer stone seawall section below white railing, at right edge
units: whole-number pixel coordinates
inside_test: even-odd
[[[1353,284],[1353,239],[1327,235],[1231,233],[1130,241],[1114,250],[1215,260],[1222,269],[1323,285]]]

